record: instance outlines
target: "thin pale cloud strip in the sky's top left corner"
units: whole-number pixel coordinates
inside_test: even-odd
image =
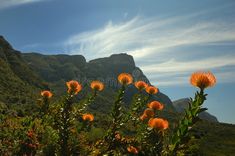
[[[9,8],[13,6],[35,3],[45,0],[0,0],[0,9]]]

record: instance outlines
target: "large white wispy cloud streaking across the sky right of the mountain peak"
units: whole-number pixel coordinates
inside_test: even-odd
[[[118,24],[110,21],[103,28],[71,36],[65,47],[70,54],[83,54],[88,59],[120,52],[131,54],[151,82],[162,86],[185,84],[195,70],[213,70],[219,82],[230,82],[231,71],[219,69],[235,69],[235,51],[219,52],[217,48],[234,49],[235,22],[204,20],[206,15],[207,12],[168,18],[137,16]],[[185,48],[190,50],[185,52]]]

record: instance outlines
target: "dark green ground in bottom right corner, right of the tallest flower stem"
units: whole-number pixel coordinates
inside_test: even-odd
[[[227,156],[235,153],[235,125],[199,121],[191,130],[193,136],[187,153],[205,156]]]

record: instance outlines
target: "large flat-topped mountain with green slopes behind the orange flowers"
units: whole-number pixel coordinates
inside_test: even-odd
[[[83,92],[79,94],[82,98],[88,94],[90,82],[98,79],[105,83],[106,88],[91,108],[106,113],[110,111],[116,90],[120,87],[117,81],[120,73],[130,73],[135,80],[150,84],[141,69],[136,67],[133,57],[127,54],[114,54],[87,62],[82,55],[21,53],[14,50],[2,36],[0,47],[0,93],[7,92],[6,96],[0,96],[0,101],[7,104],[33,103],[43,89],[52,90],[58,97],[66,91],[65,82],[72,79],[82,83]],[[12,91],[14,88],[17,91]],[[126,106],[131,101],[131,95],[137,93],[133,85],[127,90]],[[22,101],[21,98],[10,100],[12,97],[27,97],[31,101]],[[164,103],[167,111],[174,110],[171,100],[164,93],[159,92],[153,99]]]

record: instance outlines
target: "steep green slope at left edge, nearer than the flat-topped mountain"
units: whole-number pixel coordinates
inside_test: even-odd
[[[21,58],[21,53],[0,36],[0,102],[26,104],[35,101],[40,78]]]

